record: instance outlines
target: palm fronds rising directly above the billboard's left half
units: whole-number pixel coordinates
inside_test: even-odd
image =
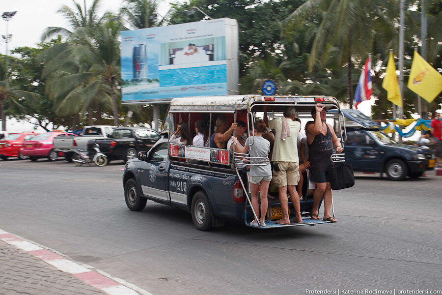
[[[130,25],[136,29],[159,26],[155,18],[151,18],[158,11],[157,0],[124,0],[120,15],[127,18]]]

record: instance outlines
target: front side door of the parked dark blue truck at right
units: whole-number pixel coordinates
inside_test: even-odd
[[[379,171],[381,160],[379,146],[364,130],[347,130],[345,161],[355,171]]]

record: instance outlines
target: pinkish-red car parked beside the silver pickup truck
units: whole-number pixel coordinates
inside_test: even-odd
[[[48,132],[35,136],[31,140],[24,141],[20,153],[28,156],[29,160],[37,161],[39,158],[48,158],[49,161],[56,161],[58,156],[63,156],[62,152],[55,151],[54,137],[72,137],[77,136],[68,132]]]

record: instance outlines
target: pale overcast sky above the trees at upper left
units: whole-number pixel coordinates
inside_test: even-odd
[[[83,6],[83,0],[77,0]],[[86,0],[86,7],[89,8],[93,0]],[[100,5],[100,14],[105,11],[111,11],[115,14],[121,6],[122,0],[102,0]],[[72,0],[0,0],[1,11],[17,11],[17,13],[8,22],[8,33],[12,34],[12,40],[8,43],[8,51],[16,47],[30,46],[34,47],[40,42],[41,34],[47,27],[69,28],[57,10],[62,5],[74,7]],[[168,4],[160,1],[160,14],[166,14]],[[168,1],[167,1],[168,3]],[[6,22],[2,19],[0,22],[0,32],[4,35],[6,32]],[[5,54],[5,44],[1,43],[0,53]]]

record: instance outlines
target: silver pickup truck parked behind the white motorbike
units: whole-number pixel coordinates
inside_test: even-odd
[[[74,138],[54,138],[54,150],[61,151],[64,154],[64,158],[68,162],[72,162],[74,155],[74,149],[87,149],[87,142],[95,139],[108,139],[111,138],[113,129],[117,126],[110,125],[94,125],[86,126],[80,137]]]

